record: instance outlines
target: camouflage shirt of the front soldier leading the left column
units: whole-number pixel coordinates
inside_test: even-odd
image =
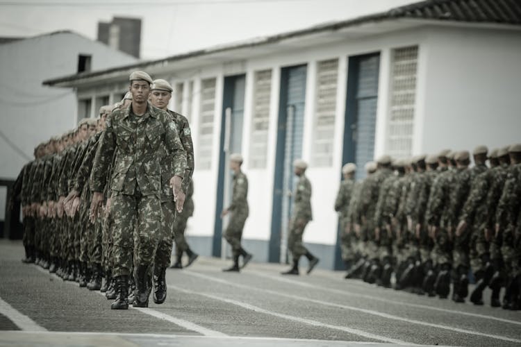
[[[133,119],[137,119],[133,124]],[[185,175],[186,152],[179,139],[175,122],[167,112],[150,103],[147,111],[133,115],[132,104],[125,110],[115,110],[108,116],[106,130],[99,139],[94,157],[90,187],[104,192],[107,171],[115,155],[110,189],[122,194],[157,195],[161,192],[162,145],[172,155],[170,177]]]

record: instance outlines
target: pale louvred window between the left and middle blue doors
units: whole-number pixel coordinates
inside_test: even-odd
[[[254,112],[251,119],[251,144],[249,167],[266,167],[267,130],[270,125],[270,99],[272,92],[272,70],[255,72]]]

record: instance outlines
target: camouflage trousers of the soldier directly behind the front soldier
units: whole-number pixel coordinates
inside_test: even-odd
[[[158,249],[156,251],[156,260],[154,263],[159,269],[166,268],[170,265],[172,247],[174,246],[173,237],[176,203],[174,201],[162,202],[161,210],[163,210],[163,221],[161,222]]]

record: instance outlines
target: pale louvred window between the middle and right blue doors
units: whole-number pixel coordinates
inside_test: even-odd
[[[333,164],[337,85],[338,59],[318,62],[311,158],[315,167],[330,167]]]

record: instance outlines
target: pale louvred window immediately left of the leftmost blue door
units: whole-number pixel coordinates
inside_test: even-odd
[[[215,115],[215,78],[201,81],[201,108],[199,117],[199,149],[197,167],[212,167],[213,119]]]

